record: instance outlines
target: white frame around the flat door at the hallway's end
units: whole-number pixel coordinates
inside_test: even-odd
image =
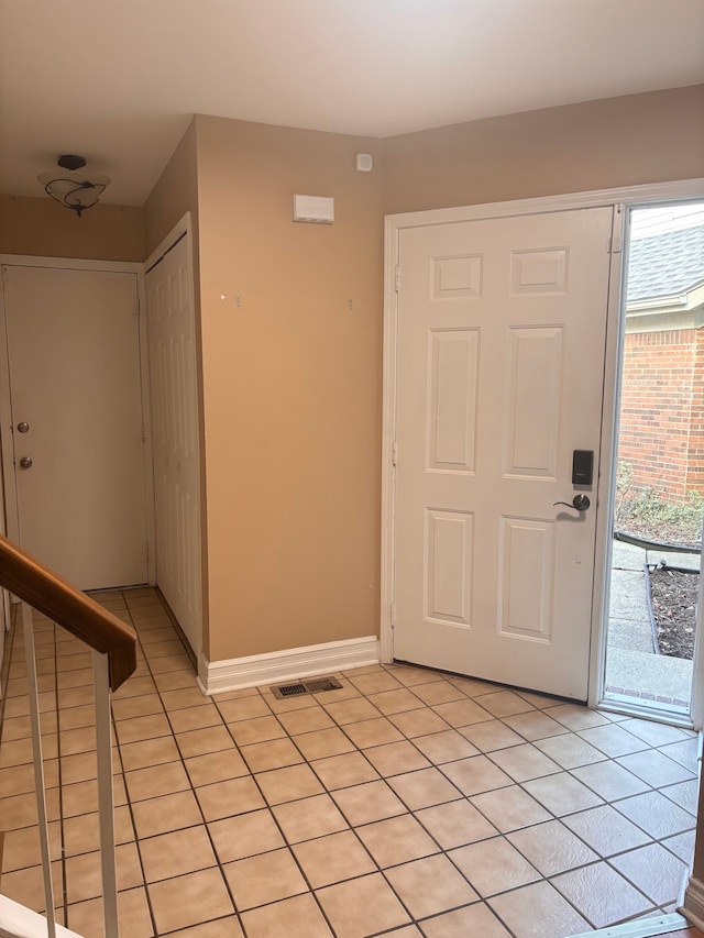
[[[146,294],[144,289],[144,265],[129,261],[80,261],[73,257],[37,257],[23,254],[0,254],[0,266],[48,267],[56,271],[94,271],[107,274],[134,274],[139,305],[140,338],[140,387],[142,396],[142,422],[144,446],[142,448],[142,475],[144,477],[145,531],[147,548],[147,582],[154,585],[156,572],[154,553],[154,479],[152,476],[152,427],[148,355],[146,346]],[[16,476],[12,452],[12,409],[10,406],[10,363],[8,349],[4,290],[0,289],[0,457],[4,478],[6,523],[10,540],[19,542],[19,517]]]

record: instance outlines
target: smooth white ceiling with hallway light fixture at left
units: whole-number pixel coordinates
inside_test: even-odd
[[[389,136],[698,82],[704,0],[0,0],[0,191],[78,153],[142,205],[193,113]]]

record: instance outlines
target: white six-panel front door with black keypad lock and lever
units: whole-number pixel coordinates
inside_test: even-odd
[[[394,656],[587,696],[612,209],[403,229]],[[556,506],[592,496],[586,511]]]

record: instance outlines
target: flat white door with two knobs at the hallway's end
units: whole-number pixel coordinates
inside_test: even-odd
[[[136,275],[3,284],[20,543],[80,589],[145,583]]]

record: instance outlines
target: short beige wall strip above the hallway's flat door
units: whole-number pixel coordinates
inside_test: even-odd
[[[0,253],[141,262],[144,210],[98,205],[78,218],[48,196],[0,196]]]

